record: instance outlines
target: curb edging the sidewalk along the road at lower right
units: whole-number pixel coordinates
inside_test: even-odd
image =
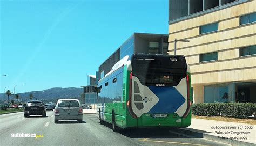
[[[215,135],[210,135],[207,133],[200,133],[200,132],[193,132],[192,130],[188,130],[186,128],[177,128],[175,130],[176,132],[187,134],[187,135],[192,135],[195,137],[199,138],[205,138],[207,140],[212,140],[212,141],[217,141],[221,143],[226,143],[226,144],[232,144],[232,145],[255,145],[254,143],[248,143],[248,142],[243,142],[243,141],[237,141],[237,140],[231,140],[231,139],[219,139],[218,136]]]

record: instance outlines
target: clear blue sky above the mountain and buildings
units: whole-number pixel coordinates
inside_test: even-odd
[[[0,0],[0,93],[87,85],[134,32],[168,33],[168,1]]]

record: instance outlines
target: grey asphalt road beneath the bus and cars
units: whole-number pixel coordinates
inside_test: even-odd
[[[53,120],[52,111],[45,118],[24,118],[23,112],[0,115],[0,145],[225,145],[180,134],[175,129],[126,129],[114,133],[110,124],[100,125],[95,114],[84,114],[83,123],[55,124]],[[43,137],[12,137],[16,133]]]

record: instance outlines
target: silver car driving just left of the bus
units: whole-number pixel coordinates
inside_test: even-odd
[[[83,108],[77,99],[59,99],[54,114],[54,123],[59,120],[77,120],[83,122]]]

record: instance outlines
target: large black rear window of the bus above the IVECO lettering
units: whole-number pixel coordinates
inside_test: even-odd
[[[132,59],[132,74],[143,85],[177,86],[186,71],[184,56],[135,54]]]

